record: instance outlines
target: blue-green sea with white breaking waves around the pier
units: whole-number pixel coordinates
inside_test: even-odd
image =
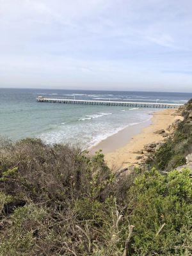
[[[41,138],[45,143],[90,148],[125,127],[146,122],[152,116],[149,114],[161,110],[36,102],[38,96],[184,104],[192,93],[0,88],[0,136],[12,140]]]

